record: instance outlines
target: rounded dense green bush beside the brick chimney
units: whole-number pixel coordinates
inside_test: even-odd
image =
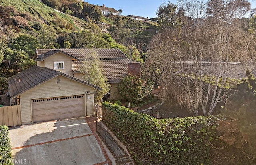
[[[146,77],[128,75],[121,80],[117,89],[122,99],[136,104],[150,96],[153,86],[154,82]]]

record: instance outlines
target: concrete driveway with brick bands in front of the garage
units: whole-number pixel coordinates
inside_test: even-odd
[[[16,165],[108,164],[85,118],[15,126],[9,133]]]

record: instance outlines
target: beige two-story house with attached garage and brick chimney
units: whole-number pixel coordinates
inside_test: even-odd
[[[128,73],[138,75],[140,63],[130,63],[119,49],[96,49],[110,83],[110,98]],[[93,115],[94,91],[100,87],[82,80],[83,60],[92,49],[36,49],[36,66],[10,78],[10,98],[20,105],[22,124]]]

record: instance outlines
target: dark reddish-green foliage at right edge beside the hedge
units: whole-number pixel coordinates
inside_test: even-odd
[[[224,113],[231,117],[228,122],[221,122],[221,137],[229,145],[242,148],[251,157],[256,156],[256,79],[251,71],[246,71],[247,78],[234,88],[235,92],[228,99]],[[248,155],[248,156],[249,156]]]

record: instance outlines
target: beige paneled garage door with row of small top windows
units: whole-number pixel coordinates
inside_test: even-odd
[[[85,116],[84,95],[32,100],[33,122]]]

